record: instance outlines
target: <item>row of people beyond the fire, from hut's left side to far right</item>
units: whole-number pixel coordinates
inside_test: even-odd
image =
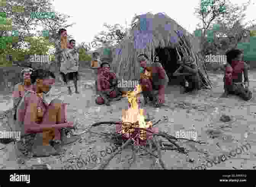
[[[225,67],[224,94],[222,96],[227,97],[230,94],[235,94],[245,101],[250,100],[253,94],[249,90],[248,65],[242,61],[243,52],[232,49],[226,53],[226,56],[228,63]],[[100,64],[100,58],[97,55],[91,64],[96,69],[96,91],[98,91],[96,103],[109,105],[110,100],[120,96],[122,90],[117,87],[118,78],[114,72],[110,71],[110,64],[105,61],[96,67],[94,66],[96,62]],[[140,63],[140,84],[144,104],[150,101],[155,107],[159,107],[165,102],[165,89],[169,82],[165,69],[157,56],[154,57],[154,63],[150,63],[146,54],[140,54],[138,62]],[[173,76],[181,77],[184,93],[200,90],[202,87],[200,72],[195,61],[191,57],[184,57],[177,63],[179,68],[174,71]]]

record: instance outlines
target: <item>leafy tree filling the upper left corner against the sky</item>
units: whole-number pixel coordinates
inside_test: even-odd
[[[16,8],[17,6],[19,6],[19,8]],[[29,46],[30,48],[32,47],[31,49],[35,49],[33,45],[42,47],[35,45],[37,43],[33,42],[33,39],[26,39],[28,37],[32,38],[33,36],[38,36],[38,34],[32,33],[38,26],[42,26],[45,30],[49,31],[49,37],[45,37],[45,39],[48,40],[48,44],[54,44],[59,28],[67,28],[73,25],[66,24],[69,16],[54,11],[50,0],[7,1],[3,7],[3,12],[6,13],[7,19],[12,22],[11,30],[18,30],[19,33],[19,36],[14,37],[13,41],[11,43],[9,42],[10,45],[8,44],[6,48],[8,50],[10,49],[12,52],[21,51],[24,46],[27,47],[27,49],[29,49]],[[51,13],[51,16],[48,14],[43,17],[40,13]],[[41,15],[41,17],[38,15]],[[3,30],[0,32],[0,38],[7,35],[8,31]],[[71,36],[69,35],[69,37]],[[29,44],[28,42],[32,43]],[[0,54],[5,53],[6,49],[0,49]],[[44,49],[42,49],[41,52],[44,52]],[[14,56],[19,56],[18,52]]]

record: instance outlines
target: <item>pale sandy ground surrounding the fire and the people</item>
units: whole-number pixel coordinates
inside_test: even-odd
[[[97,112],[98,106],[95,105],[94,91],[91,70],[83,69],[82,79],[80,80],[80,94],[67,95],[67,88],[55,86],[48,101],[55,97],[63,99],[69,103],[67,115],[69,120],[76,120],[79,128],[86,128],[98,121],[118,121],[122,116],[122,109],[128,107],[128,101],[113,102],[112,106],[101,106]],[[210,73],[210,79],[213,82],[213,90],[202,90],[197,95],[181,94],[178,86],[169,86],[166,91],[166,105],[159,111],[153,107],[143,107],[150,117],[156,120],[163,116],[168,117],[168,121],[157,125],[159,130],[167,131],[175,135],[178,130],[195,130],[197,140],[202,140],[206,144],[194,142],[180,142],[179,145],[189,150],[189,158],[194,162],[189,162],[186,155],[176,151],[162,151],[162,159],[168,169],[190,169],[205,163],[207,159],[221,154],[228,154],[232,149],[238,146],[250,143],[251,149],[240,155],[231,157],[226,162],[221,162],[208,169],[255,169],[256,168],[256,100],[244,102],[237,96],[229,98],[219,98],[223,91],[223,82],[221,74]],[[250,72],[250,88],[256,91],[256,72]],[[74,88],[74,87],[73,87]],[[255,91],[254,91],[255,90]],[[8,109],[12,105],[8,103],[10,96],[2,96],[1,108]],[[183,103],[183,107],[178,105]],[[7,107],[6,107],[7,105]],[[218,113],[213,113],[218,108]],[[221,115],[229,115],[232,121],[223,123],[219,121]],[[6,119],[0,119],[0,130],[8,130]],[[107,132],[115,129],[114,125],[102,125],[94,127],[94,132]],[[218,132],[215,138],[210,138],[206,130]],[[67,161],[70,158],[80,157],[88,160],[89,156],[96,155],[98,159],[106,159],[108,155],[102,158],[100,152],[110,148],[112,143],[106,138],[94,134],[82,135],[82,140],[72,145],[66,146],[66,153],[61,156],[31,158],[19,156],[15,145],[0,144],[0,169],[24,169],[33,164],[48,163],[52,169],[73,168],[73,169],[93,169],[98,166],[97,162],[88,162],[87,165],[80,162],[77,165],[74,162]],[[109,149],[108,149],[109,150]],[[110,151],[109,151],[110,152]],[[144,152],[137,152],[137,159],[131,162],[131,148],[123,150],[112,159],[108,169],[160,169],[160,165],[152,156],[143,156]]]

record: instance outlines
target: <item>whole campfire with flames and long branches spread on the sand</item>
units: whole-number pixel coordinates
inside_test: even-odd
[[[180,140],[193,141],[195,143],[203,144],[204,142],[198,142],[194,140],[188,140],[186,138],[176,138],[167,132],[159,132],[158,128],[154,127],[157,125],[161,119],[157,121],[157,123],[152,124],[152,121],[147,121],[144,116],[144,110],[139,108],[137,97],[142,92],[141,85],[137,85],[133,91],[129,91],[126,93],[126,97],[128,98],[129,108],[127,110],[123,110],[122,113],[122,121],[105,121],[94,123],[92,127],[99,126],[101,124],[115,124],[116,129],[113,133],[107,132],[92,132],[88,130],[90,133],[98,134],[100,136],[109,137],[110,140],[114,140],[114,143],[118,145],[118,149],[114,150],[114,152],[107,158],[102,161],[99,165],[98,169],[104,169],[118,153],[120,153],[126,146],[131,145],[133,150],[133,162],[136,160],[136,153],[138,150],[143,149],[147,154],[153,156],[156,159],[156,162],[161,165],[162,168],[166,169],[165,164],[162,161],[162,150],[176,150],[181,152],[182,154],[187,154],[188,151],[179,146],[178,142]],[[163,119],[163,121],[165,121]],[[91,129],[90,128],[90,129]],[[162,139],[158,139],[161,137]],[[165,138],[164,141],[163,139]],[[154,152],[157,152],[155,154]],[[188,155],[187,155],[188,156]]]

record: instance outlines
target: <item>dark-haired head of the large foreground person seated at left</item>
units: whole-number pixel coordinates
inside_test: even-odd
[[[39,93],[48,93],[55,83],[55,75],[51,71],[37,69],[31,74],[31,83],[36,83]]]

